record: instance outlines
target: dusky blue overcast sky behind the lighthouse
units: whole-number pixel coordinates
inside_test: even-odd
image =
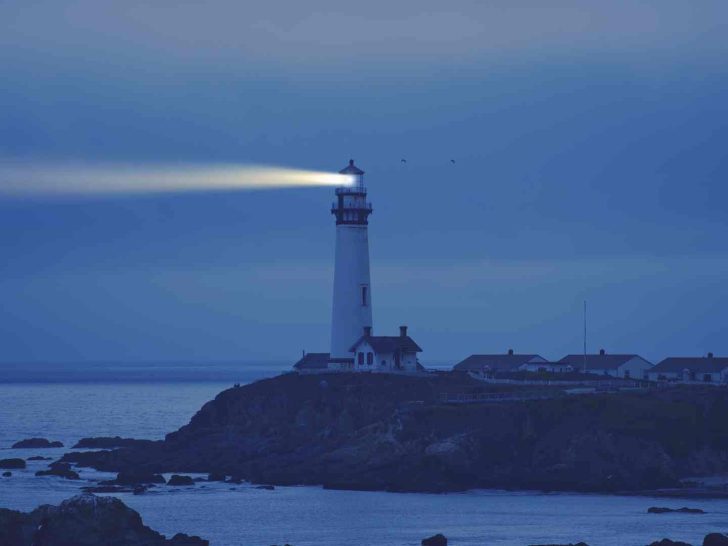
[[[375,333],[409,325],[424,363],[581,352],[584,300],[591,351],[728,355],[727,18],[710,0],[5,0],[0,161],[354,158]],[[0,197],[0,362],[328,351],[332,195]]]

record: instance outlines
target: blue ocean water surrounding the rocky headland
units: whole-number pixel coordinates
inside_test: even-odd
[[[58,457],[84,436],[161,439],[186,424],[233,383],[275,375],[286,365],[192,364],[0,365],[0,458]],[[68,380],[68,378],[75,380]],[[66,448],[13,450],[34,436]],[[0,507],[31,510],[79,492],[111,474],[82,469],[81,482],[36,477],[46,462],[0,478]],[[728,531],[728,500],[471,491],[442,495],[329,491],[200,483],[118,494],[144,522],[171,536],[199,535],[213,546],[416,546],[443,533],[454,546],[525,546],[585,541],[591,546],[644,546],[668,537],[702,544]],[[706,514],[647,514],[650,506],[702,508]]]

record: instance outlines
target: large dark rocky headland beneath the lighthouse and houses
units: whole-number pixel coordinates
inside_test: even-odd
[[[65,461],[276,485],[626,491],[728,470],[728,392],[711,387],[445,404],[459,374],[284,375],[226,390],[163,442]],[[491,387],[493,389],[495,387]],[[531,387],[533,390],[533,387]]]

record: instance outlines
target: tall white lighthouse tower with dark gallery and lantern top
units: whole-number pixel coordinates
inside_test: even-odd
[[[364,171],[353,159],[339,172],[353,177],[353,184],[336,188],[336,202],[331,208],[336,216],[336,259],[329,367],[351,369],[351,347],[365,327],[372,327],[367,228],[372,204],[367,202]]]

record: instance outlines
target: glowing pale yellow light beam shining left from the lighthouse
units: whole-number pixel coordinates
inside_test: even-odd
[[[351,186],[355,177],[254,165],[0,162],[0,195],[73,196]]]

